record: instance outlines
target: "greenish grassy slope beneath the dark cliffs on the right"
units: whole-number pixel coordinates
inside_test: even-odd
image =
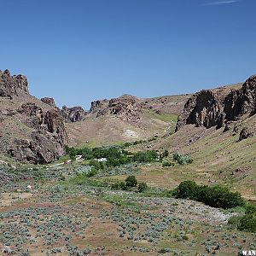
[[[241,127],[256,131],[256,117],[245,119]],[[256,137],[249,137],[241,142],[238,139],[239,133],[234,136],[232,131],[223,132],[223,128],[216,130],[215,127],[206,129],[185,125],[172,136],[150,143],[150,147],[159,150],[168,148],[171,153],[178,150],[189,154],[193,163],[173,167],[146,166],[138,178],[168,189],[186,179],[206,184],[221,183],[256,200]],[[137,145],[134,150],[147,147],[148,143]],[[172,161],[172,156],[170,160]]]

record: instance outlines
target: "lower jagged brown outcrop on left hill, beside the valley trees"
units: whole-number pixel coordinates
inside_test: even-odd
[[[24,124],[35,131],[30,139],[15,138],[8,150],[11,156],[20,161],[44,164],[64,154],[67,133],[59,111],[50,109],[44,113],[34,103],[25,103],[17,112],[26,116]]]

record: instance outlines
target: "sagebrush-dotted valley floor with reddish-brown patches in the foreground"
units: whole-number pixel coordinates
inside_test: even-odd
[[[157,175],[165,177],[165,170],[147,176],[155,187],[149,195],[100,186],[103,179],[124,179],[131,168],[74,182],[83,168],[75,162],[47,171],[3,171],[1,255],[237,255],[256,247],[255,234],[227,224],[236,212],[164,197]],[[138,180],[148,168],[139,166]]]

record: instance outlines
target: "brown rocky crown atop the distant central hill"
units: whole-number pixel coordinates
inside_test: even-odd
[[[114,115],[125,121],[137,121],[142,116],[142,106],[133,98],[114,98],[110,101],[91,102],[90,113],[96,113],[96,117],[107,114]]]

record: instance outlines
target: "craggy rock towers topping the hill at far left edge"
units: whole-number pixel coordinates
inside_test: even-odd
[[[0,70],[0,96],[13,99],[19,96],[19,90],[28,93],[26,76],[11,76],[8,69]]]

